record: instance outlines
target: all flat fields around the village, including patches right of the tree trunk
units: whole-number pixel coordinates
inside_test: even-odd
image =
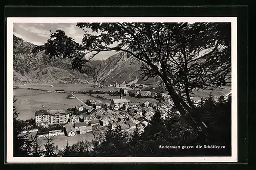
[[[14,85],[15,86],[15,85]],[[17,99],[17,102],[15,103],[15,106],[17,108],[17,111],[19,114],[19,119],[30,119],[34,118],[34,114],[36,111],[42,109],[42,105],[44,105],[44,109],[63,109],[66,110],[70,107],[74,107],[76,105],[81,105],[82,103],[78,101],[77,99],[66,99],[68,93],[52,93],[52,92],[46,92],[46,91],[40,91],[40,90],[29,90],[25,88],[34,88],[34,89],[43,89],[43,90],[49,90],[49,91],[55,91],[55,89],[64,89],[66,92],[72,92],[72,91],[84,91],[84,90],[118,90],[118,88],[115,87],[109,87],[109,88],[94,88],[92,87],[92,84],[54,84],[54,87],[50,87],[49,84],[30,84],[30,85],[17,85],[19,86],[19,89],[13,89],[14,92],[14,98]],[[212,90],[198,90],[195,91],[193,95],[191,96],[208,96],[209,92]],[[227,94],[230,90],[226,88],[217,88],[214,91],[212,91],[212,95],[222,95]],[[94,99],[94,100],[100,100],[102,103],[110,103],[108,100],[101,100],[98,98],[95,98],[93,95],[85,95],[85,94],[75,94],[78,99],[83,101],[84,103],[88,99]],[[95,95],[103,95],[108,96],[108,98],[111,99],[119,99],[119,96],[110,96],[107,94],[95,94]],[[143,101],[149,101],[152,103],[157,102],[155,99],[147,98],[147,99],[137,99],[133,98],[131,96],[123,96],[123,98],[131,100],[131,102],[143,102]],[[198,98],[200,99],[200,98]]]

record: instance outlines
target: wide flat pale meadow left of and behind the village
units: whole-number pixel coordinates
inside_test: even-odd
[[[50,87],[53,85],[54,87]],[[15,106],[17,111],[20,113],[19,119],[30,119],[34,118],[35,112],[42,109],[63,109],[66,110],[82,103],[77,99],[67,99],[69,92],[73,91],[84,91],[84,90],[118,90],[115,87],[109,88],[97,88],[92,87],[93,84],[14,84],[13,95],[17,99]],[[19,87],[19,89],[15,89]],[[40,90],[30,90],[27,88],[42,89],[48,91],[55,91],[55,89],[63,89],[66,93],[51,93]],[[87,99],[94,99],[93,96],[84,94],[75,94],[80,100],[86,102]],[[102,101],[109,102],[109,101]]]

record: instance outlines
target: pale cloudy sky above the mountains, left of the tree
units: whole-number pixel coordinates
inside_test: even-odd
[[[50,38],[50,31],[62,30],[67,36],[72,37],[81,44],[84,32],[76,27],[76,23],[13,23],[13,34],[25,41],[42,45]],[[116,54],[114,51],[101,52],[92,60],[105,60]]]

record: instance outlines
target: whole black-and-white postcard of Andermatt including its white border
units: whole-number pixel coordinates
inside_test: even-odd
[[[237,162],[237,19],[8,18],[7,113],[9,162]]]

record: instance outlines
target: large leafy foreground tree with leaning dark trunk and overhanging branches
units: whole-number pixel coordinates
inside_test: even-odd
[[[144,78],[162,79],[183,118],[207,137],[209,127],[191,117],[194,104],[189,93],[222,86],[230,79],[230,23],[122,22],[77,23],[77,26],[84,31],[83,45],[58,30],[41,47],[50,56],[72,58],[72,66],[78,70],[87,61],[83,58],[86,54],[91,54],[91,59],[102,51],[126,52],[142,62]]]

